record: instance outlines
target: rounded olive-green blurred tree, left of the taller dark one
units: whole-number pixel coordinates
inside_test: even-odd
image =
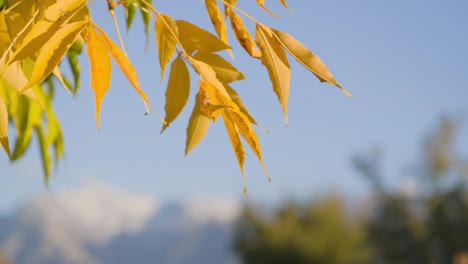
[[[289,203],[273,217],[244,209],[235,247],[243,263],[367,263],[361,222],[336,197]]]

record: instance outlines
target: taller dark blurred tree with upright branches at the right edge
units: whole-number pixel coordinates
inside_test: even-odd
[[[463,263],[468,251],[467,162],[455,150],[456,128],[455,119],[444,117],[426,138],[415,171],[420,192],[412,197],[389,190],[375,152],[354,158],[374,191],[367,222],[372,263]]]

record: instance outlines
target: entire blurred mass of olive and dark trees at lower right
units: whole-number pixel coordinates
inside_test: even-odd
[[[391,188],[378,153],[370,152],[353,160],[370,183],[368,202],[346,210],[331,197],[292,202],[273,214],[246,207],[236,252],[246,264],[468,263],[468,161],[456,153],[456,131],[457,122],[443,118],[427,137],[413,169],[415,193]]]

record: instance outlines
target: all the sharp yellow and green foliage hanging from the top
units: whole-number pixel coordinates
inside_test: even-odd
[[[155,6],[157,3],[153,5],[151,0],[106,0],[119,45],[94,22],[90,15],[93,2],[0,2],[0,145],[10,160],[16,161],[24,155],[31,137],[35,135],[40,145],[46,180],[53,160],[59,160],[64,153],[62,130],[52,107],[55,85],[60,83],[71,94],[78,91],[81,70],[77,58],[83,49],[90,61],[90,86],[95,93],[98,128],[101,103],[111,81],[111,59],[141,97],[146,113],[155,112],[150,98],[140,86],[120,37],[120,19],[115,15],[115,9],[118,8],[124,11],[125,17],[121,19],[127,29],[133,24],[138,10],[146,34],[154,29],[161,79],[165,76],[166,66],[172,61],[167,80],[166,115],[164,118],[158,115],[162,122],[161,132],[185,108],[190,94],[190,74],[197,75],[198,89],[188,121],[185,154],[200,143],[210,123],[221,117],[244,178],[244,186],[244,143],[252,149],[265,172],[266,166],[254,131],[258,122],[230,86],[232,82],[243,80],[245,75],[219,54],[225,51],[224,56],[228,54],[233,58],[234,53],[237,53],[229,45],[229,26],[244,51],[265,66],[286,123],[291,75],[287,54],[321,82],[329,82],[350,96],[326,65],[304,45],[289,34],[256,20],[237,7],[236,0],[204,1],[216,35],[188,21],[174,20],[158,10]],[[265,6],[265,1],[256,2],[263,10],[277,17]],[[280,0],[280,3],[288,9],[286,1]],[[247,22],[255,26],[254,35],[249,31]],[[72,79],[62,74],[66,64],[71,69]],[[9,128],[13,128],[15,137],[8,132]],[[10,141],[13,141],[12,149]]]

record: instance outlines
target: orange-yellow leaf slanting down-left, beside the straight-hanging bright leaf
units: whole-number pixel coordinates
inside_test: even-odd
[[[60,63],[87,22],[64,25],[41,48],[28,84],[21,93],[47,77]]]

